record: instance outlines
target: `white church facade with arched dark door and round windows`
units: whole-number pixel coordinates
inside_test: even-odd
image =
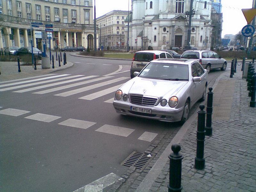
[[[190,0],[132,0],[129,16],[129,45],[134,49],[184,48],[187,44]],[[192,47],[204,49],[211,45],[211,0],[194,1],[192,18]],[[126,19],[128,21],[128,17]],[[125,25],[127,29],[127,22]],[[127,38],[127,33],[125,34]]]

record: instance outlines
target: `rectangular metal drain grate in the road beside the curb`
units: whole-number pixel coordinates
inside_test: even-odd
[[[126,167],[134,166],[138,169],[144,169],[151,157],[147,157],[145,153],[140,153],[137,151],[133,151],[131,155],[129,155],[121,165]]]

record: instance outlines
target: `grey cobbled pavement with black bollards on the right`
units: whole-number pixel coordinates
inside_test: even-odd
[[[204,170],[194,168],[196,156],[195,120],[180,142],[182,160],[182,191],[256,191],[256,108],[250,108],[247,82],[242,80],[241,66],[229,78],[222,76],[214,91],[211,137],[204,142]],[[222,115],[221,115],[222,114]],[[172,130],[178,132],[178,130]],[[148,172],[169,145],[173,134],[165,132],[148,148],[153,159],[141,171],[130,167],[108,191],[138,191]],[[171,153],[171,149],[169,149]],[[168,191],[169,159],[149,191]],[[137,189],[137,190],[136,190]],[[140,191],[148,191],[141,190]]]

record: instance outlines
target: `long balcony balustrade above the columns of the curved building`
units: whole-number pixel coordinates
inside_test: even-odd
[[[61,23],[58,21],[42,21],[42,20],[33,20],[33,19],[25,19],[20,17],[13,17],[9,15],[0,14],[0,22],[4,21],[3,25],[8,22],[14,22],[14,23],[20,23],[20,24],[26,24],[30,25],[31,22],[37,22],[37,23],[43,23],[45,24],[52,24],[55,28],[79,28],[79,29],[85,29],[85,28],[91,28],[94,29],[94,25],[91,24],[76,24],[76,23]],[[8,23],[9,25],[9,23]],[[97,25],[98,29],[98,25]]]

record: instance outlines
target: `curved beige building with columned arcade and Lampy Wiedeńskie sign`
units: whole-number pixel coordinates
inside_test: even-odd
[[[42,49],[45,40],[51,49],[81,45],[93,49],[92,11],[92,0],[0,0],[0,48],[28,47],[33,41]],[[32,27],[32,37],[31,22],[43,24]],[[53,25],[52,33],[45,32],[46,24]]]

